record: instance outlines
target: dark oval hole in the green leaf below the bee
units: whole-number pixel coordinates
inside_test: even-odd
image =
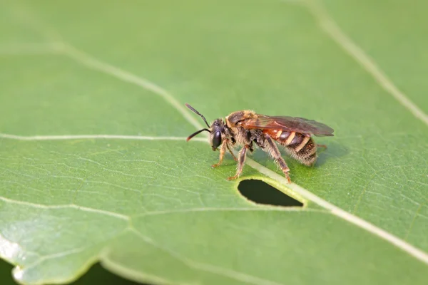
[[[303,204],[284,194],[262,180],[242,180],[238,185],[239,192],[258,204],[270,204],[282,207],[302,207]]]

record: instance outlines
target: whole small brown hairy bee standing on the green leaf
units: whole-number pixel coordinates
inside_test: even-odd
[[[315,120],[305,118],[287,117],[287,116],[269,116],[257,114],[250,110],[233,112],[225,117],[214,120],[209,125],[205,117],[188,103],[185,104],[194,113],[200,115],[208,128],[203,128],[190,135],[186,141],[189,141],[198,133],[206,131],[210,133],[210,144],[213,150],[220,147],[220,157],[218,163],[211,167],[218,167],[223,162],[226,150],[230,152],[236,162],[238,169],[235,176],[229,177],[228,180],[238,178],[243,172],[245,157],[247,152],[254,151],[254,145],[267,152],[284,172],[285,177],[290,183],[290,169],[281,157],[279,145],[285,147],[290,157],[294,158],[303,165],[312,166],[317,160],[317,146],[326,147],[325,145],[316,145],[312,140],[312,135],[318,137],[332,136],[334,130],[327,125],[318,123]],[[238,158],[232,152],[232,147],[243,145],[238,152]]]

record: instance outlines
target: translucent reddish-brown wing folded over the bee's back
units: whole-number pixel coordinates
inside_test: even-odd
[[[334,132],[329,126],[315,120],[287,116],[258,114],[257,118],[244,120],[240,125],[248,129],[286,130],[288,132],[312,134],[318,137],[332,136]]]

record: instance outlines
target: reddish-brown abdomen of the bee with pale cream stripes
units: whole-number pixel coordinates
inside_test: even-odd
[[[287,153],[303,165],[313,165],[317,160],[317,145],[310,136],[285,130],[264,130],[263,133],[285,146]]]

